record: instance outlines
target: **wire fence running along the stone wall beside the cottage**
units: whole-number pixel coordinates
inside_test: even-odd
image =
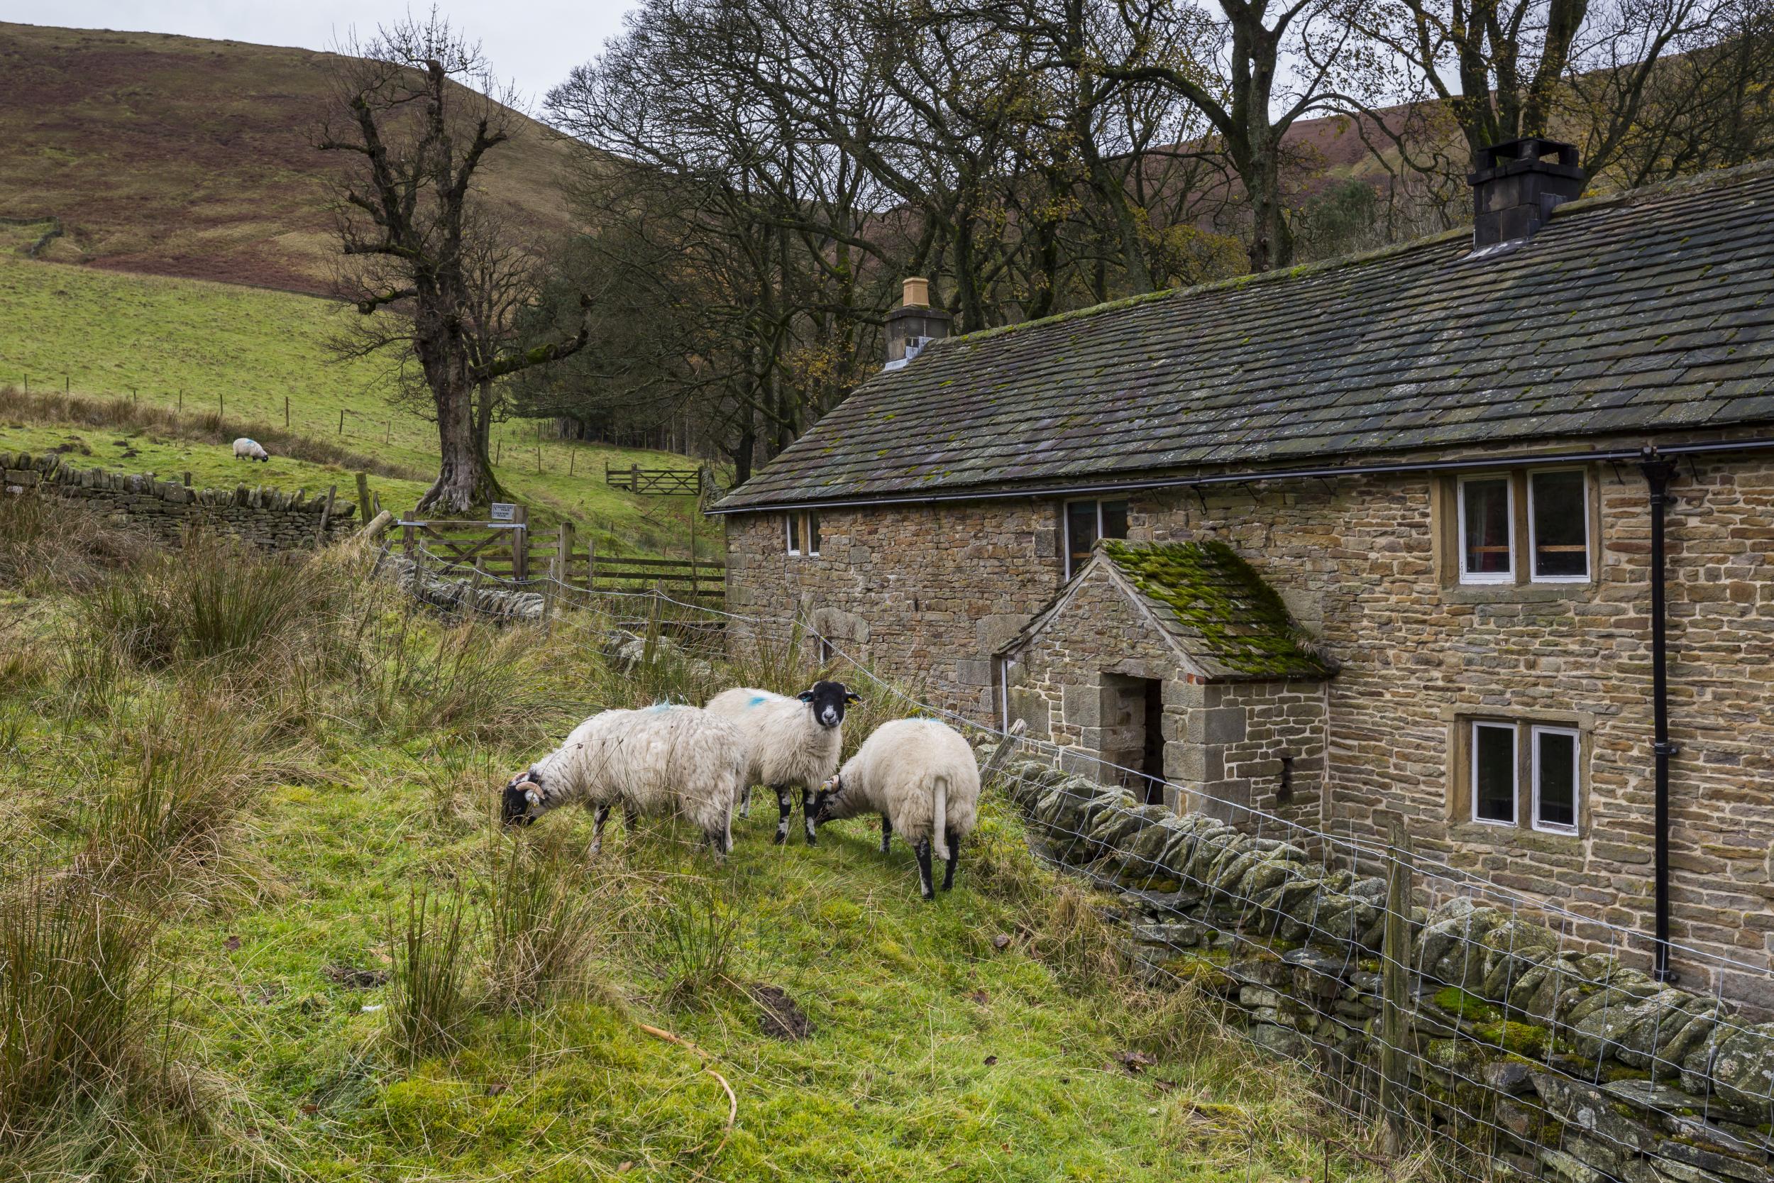
[[[1710,983],[1678,990],[1639,968],[1646,935],[1414,853],[1403,834],[1332,834],[1203,784],[1173,787],[1208,812],[1142,805],[1119,787],[1135,770],[924,702],[804,619],[500,584],[491,594],[534,596],[550,628],[589,628],[562,608],[596,608],[596,640],[626,631],[649,662],[804,647],[805,667],[947,720],[992,748],[985,791],[1022,811],[1031,850],[1103,889],[1130,972],[1217,995],[1329,1105],[1432,1146],[1451,1178],[1774,1178],[1774,1023],[1724,995],[1726,981],[1767,986],[1767,965],[1673,945]],[[486,612],[477,596],[461,607]]]

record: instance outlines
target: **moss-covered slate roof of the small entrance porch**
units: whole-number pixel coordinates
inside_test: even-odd
[[[1080,587],[1107,576],[1180,651],[1215,681],[1316,679],[1336,672],[1256,569],[1219,541],[1098,543],[1054,601],[999,653],[1024,649],[1059,619]]]

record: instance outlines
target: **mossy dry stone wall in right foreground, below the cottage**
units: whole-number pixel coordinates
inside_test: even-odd
[[[1040,853],[1102,889],[1134,972],[1222,997],[1258,1045],[1375,1100],[1385,878],[1045,761],[988,789],[1027,812]],[[1410,906],[1405,931],[1403,1094],[1442,1153],[1570,1183],[1770,1178],[1774,1023],[1472,897]]]

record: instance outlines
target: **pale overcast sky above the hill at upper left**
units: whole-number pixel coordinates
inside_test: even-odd
[[[408,11],[424,14],[428,0],[0,0],[0,21],[122,28],[293,44],[330,50],[355,27],[373,34],[378,23]],[[511,80],[530,105],[566,71],[591,60],[605,37],[621,32],[630,0],[449,0],[438,9],[486,50],[493,71]]]

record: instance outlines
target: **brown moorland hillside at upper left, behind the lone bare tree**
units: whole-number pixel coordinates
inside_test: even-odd
[[[60,218],[44,257],[323,293],[334,243],[310,147],[330,53],[0,23],[0,218]],[[566,149],[541,124],[484,192],[564,231]]]

